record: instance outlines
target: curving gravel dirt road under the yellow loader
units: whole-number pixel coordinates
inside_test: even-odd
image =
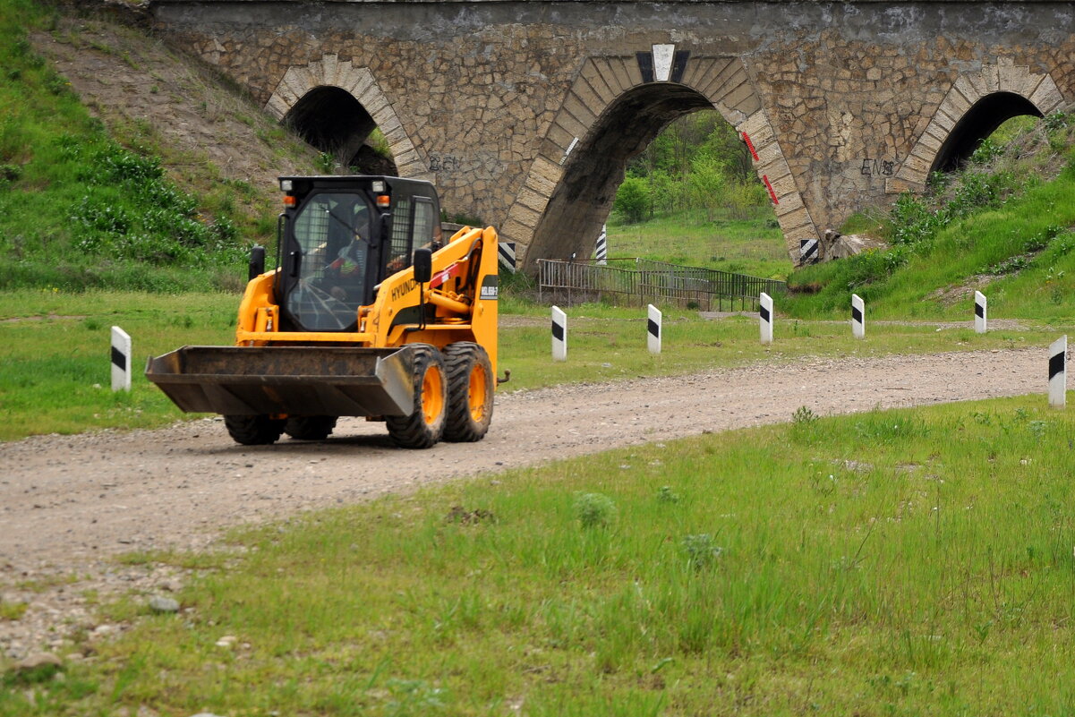
[[[1044,393],[1045,373],[1044,352],[1021,349],[812,359],[502,391],[484,441],[419,451],[393,448],[382,424],[361,419],[341,419],[325,442],[254,448],[234,444],[215,419],[2,444],[0,600],[30,610],[20,621],[0,621],[0,651],[58,646],[58,621],[91,619],[77,597],[87,586],[152,591],[176,577],[117,567],[108,558],[118,553],[204,547],[246,521],[614,446],[787,421],[802,405],[829,415]]]

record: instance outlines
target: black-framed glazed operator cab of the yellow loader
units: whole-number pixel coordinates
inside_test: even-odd
[[[276,295],[286,330],[355,331],[374,287],[440,248],[436,191],[388,176],[283,176]]]

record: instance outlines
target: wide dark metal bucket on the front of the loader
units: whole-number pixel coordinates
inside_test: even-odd
[[[414,405],[411,349],[184,346],[145,376],[183,411],[225,416],[403,416]]]

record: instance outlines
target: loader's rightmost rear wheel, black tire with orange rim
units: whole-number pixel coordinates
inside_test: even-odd
[[[485,349],[470,342],[448,344],[444,347],[444,362],[448,369],[448,419],[444,425],[444,440],[458,443],[481,441],[492,420],[492,389],[497,385],[492,364]],[[485,381],[477,386],[481,404],[472,401],[471,374],[479,370]],[[479,416],[475,418],[477,411]]]

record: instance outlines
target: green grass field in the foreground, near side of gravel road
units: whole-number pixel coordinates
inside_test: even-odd
[[[797,416],[140,556],[185,612],[0,715],[1071,714],[1071,414]]]

